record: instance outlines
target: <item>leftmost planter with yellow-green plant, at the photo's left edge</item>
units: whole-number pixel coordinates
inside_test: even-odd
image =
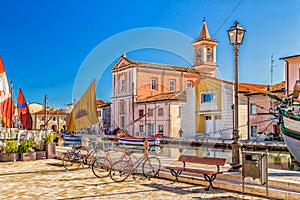
[[[0,154],[0,160],[3,162],[10,162],[19,160],[18,144],[14,140],[7,140],[5,142],[4,153]]]

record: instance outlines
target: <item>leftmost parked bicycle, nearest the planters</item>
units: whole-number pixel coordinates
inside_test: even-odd
[[[83,153],[82,151],[85,151],[86,153]],[[65,169],[74,171],[80,166],[93,163],[96,158],[95,154],[96,149],[94,147],[73,145],[72,150],[65,153],[62,164]]]

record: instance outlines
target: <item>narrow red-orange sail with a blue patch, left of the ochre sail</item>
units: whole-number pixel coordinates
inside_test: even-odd
[[[17,108],[21,124],[25,127],[25,129],[31,130],[31,115],[21,88],[19,88],[18,92]]]

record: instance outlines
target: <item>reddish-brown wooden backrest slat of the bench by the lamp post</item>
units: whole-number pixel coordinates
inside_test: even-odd
[[[226,158],[197,157],[188,155],[180,155],[178,161],[219,166],[224,166],[226,164]]]

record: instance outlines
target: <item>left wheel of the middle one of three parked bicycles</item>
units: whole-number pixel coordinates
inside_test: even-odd
[[[108,177],[110,174],[111,163],[105,157],[96,158],[92,164],[92,171],[98,178]]]

